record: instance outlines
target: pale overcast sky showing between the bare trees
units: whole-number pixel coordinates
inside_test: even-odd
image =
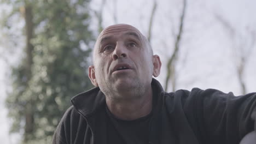
[[[114,2],[117,2],[117,4],[115,5]],[[154,53],[158,54],[162,61],[161,75],[156,79],[164,85],[166,58],[170,57],[173,51],[173,33],[177,33],[177,19],[182,8],[182,1],[162,0],[157,2],[158,7],[152,31],[152,47]],[[91,7],[94,10],[98,10],[100,4],[100,0],[94,0],[91,3]],[[113,25],[115,23],[114,16],[116,16],[118,23],[133,25],[144,35],[147,35],[152,5],[153,1],[146,0],[108,0],[105,7],[103,7],[103,26]],[[216,15],[222,16],[229,21],[237,33],[240,33],[240,37],[236,38],[235,41],[248,40],[246,29],[251,28],[256,31],[255,7],[256,1],[254,0],[188,1],[184,35],[177,62],[177,89],[191,90],[193,87],[201,89],[216,88],[225,93],[241,94],[236,76],[237,57],[234,52],[236,45],[234,45],[234,40],[231,39],[226,28],[216,19]],[[0,13],[3,10],[8,11],[5,6],[2,7],[0,5]],[[93,19],[92,23],[95,23],[92,26],[92,29],[95,29],[96,19]],[[20,24],[21,26],[22,23]],[[19,33],[20,27],[18,26],[14,31]],[[3,29],[0,29],[0,37],[3,36],[2,32]],[[8,46],[3,46],[3,44],[5,44],[5,41],[1,39],[0,57],[3,51],[8,49]],[[251,51],[251,56],[248,58],[245,70],[245,82],[248,92],[255,92],[255,45]],[[21,50],[18,47],[15,51],[18,52],[15,52],[15,56],[11,56],[14,60],[15,57],[19,57]],[[238,52],[238,54],[240,53]],[[12,63],[15,63],[15,61]],[[8,135],[11,119],[7,118],[4,99],[7,97],[6,92],[9,87],[7,76],[10,71],[3,58],[0,58],[0,67],[0,139],[1,143],[18,144],[20,141],[19,135]]]

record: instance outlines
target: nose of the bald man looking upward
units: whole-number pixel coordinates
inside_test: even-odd
[[[118,58],[127,57],[127,49],[123,44],[117,43],[115,46],[115,50],[112,53],[113,60],[117,60]]]

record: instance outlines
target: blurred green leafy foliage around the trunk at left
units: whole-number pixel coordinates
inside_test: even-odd
[[[33,113],[33,131],[26,143],[49,143],[75,94],[91,88],[86,74],[92,34],[89,1],[11,1],[33,11],[34,37],[31,78],[26,61],[13,68],[13,91],[6,105],[13,120],[11,132],[24,131],[25,110]],[[17,11],[19,13],[19,11]]]

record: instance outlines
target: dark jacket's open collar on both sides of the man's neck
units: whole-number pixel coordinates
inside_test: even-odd
[[[157,93],[164,92],[160,82],[156,79],[152,78],[151,85]],[[106,98],[105,95],[101,92],[100,88],[95,87],[89,91],[75,95],[71,99],[71,103],[73,104],[74,108],[82,115],[85,117],[90,117],[98,109],[105,106]]]

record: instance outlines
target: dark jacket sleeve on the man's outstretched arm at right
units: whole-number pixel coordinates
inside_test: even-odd
[[[197,95],[202,106],[202,124],[209,140],[214,143],[239,143],[254,130],[256,93],[235,97],[207,89]]]

